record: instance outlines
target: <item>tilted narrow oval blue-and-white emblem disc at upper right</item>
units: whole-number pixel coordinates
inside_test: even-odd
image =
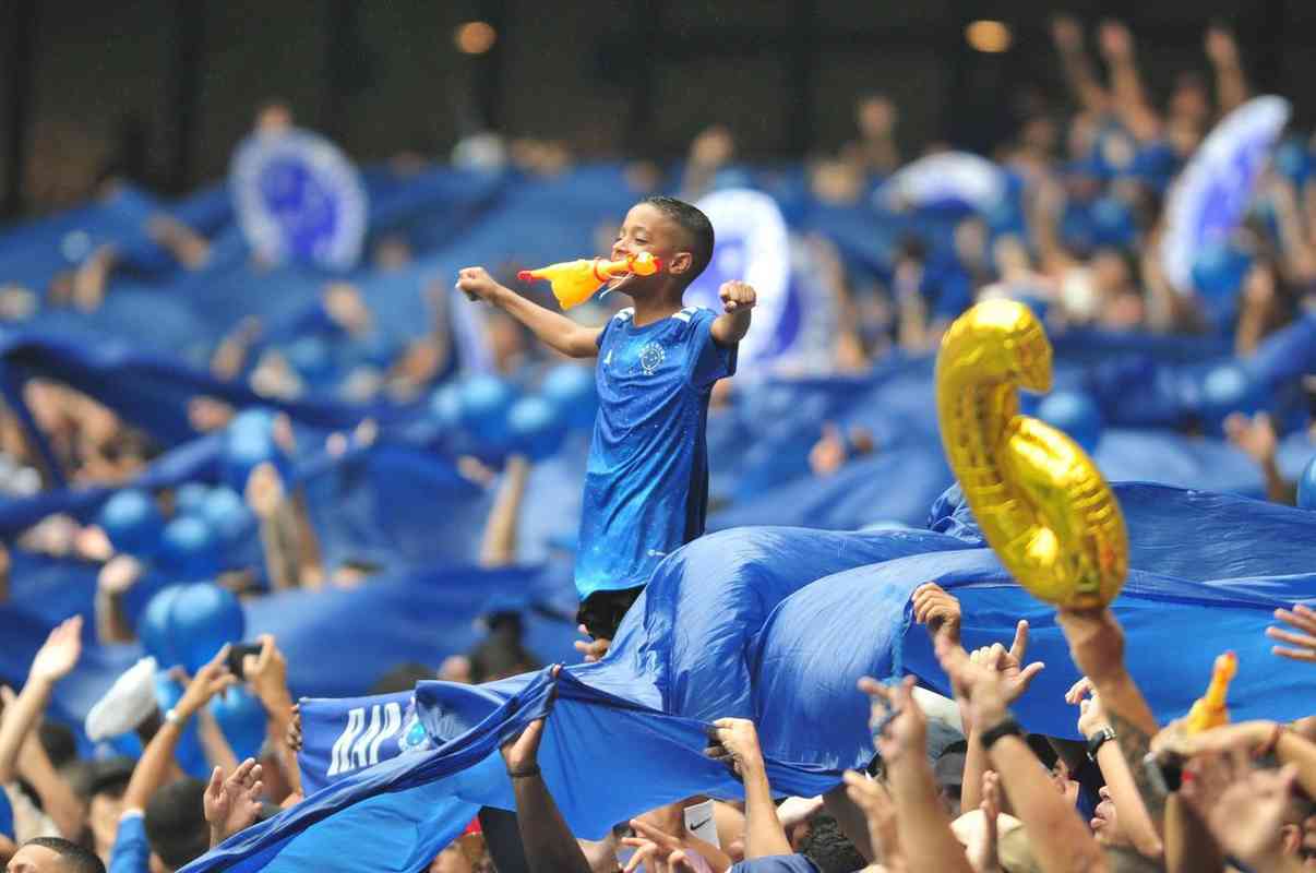
[[[1288,122],[1283,97],[1254,97],[1207,134],[1166,201],[1161,266],[1180,294],[1194,288],[1198,254],[1225,242],[1242,221],[1257,180]]]

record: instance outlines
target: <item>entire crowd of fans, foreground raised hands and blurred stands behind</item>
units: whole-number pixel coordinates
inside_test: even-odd
[[[1195,305],[1192,295],[1171,287],[1155,257],[1170,179],[1211,124],[1249,96],[1232,37],[1215,29],[1205,34],[1215,100],[1203,79],[1184,76],[1161,109],[1141,83],[1132,38],[1121,25],[1105,24],[1096,34],[1108,83],[1098,75],[1075,22],[1059,20],[1053,33],[1078,112],[1061,126],[1049,107],[1036,105],[1017,140],[994,155],[1020,183],[1013,219],[967,217],[954,228],[950,245],[907,238],[886,267],[870,270],[858,269],[825,237],[809,240],[828,266],[829,287],[845,313],[838,319],[834,371],[862,370],[892,349],[933,349],[953,317],[990,296],[1041,302],[1057,327],[1232,329],[1240,354],[1311,304],[1316,183],[1307,179],[1305,165],[1279,163],[1267,170],[1259,207],[1232,242],[1245,253],[1248,266],[1240,275],[1237,313],[1224,325]],[[808,184],[819,203],[858,204],[901,163],[898,112],[890,100],[863,99],[857,121],[861,136],[855,142],[809,165]],[[286,124],[287,119],[262,122]],[[519,141],[515,147],[484,153],[475,145],[468,144],[458,157],[507,159],[544,175],[570,163],[559,144]],[[471,157],[472,149],[479,154]],[[696,198],[738,178],[734,154],[734,137],[725,128],[700,134],[682,169],[680,192]],[[653,187],[662,174],[654,166],[636,165],[632,178],[637,187]],[[204,237],[178,223],[162,223],[153,233],[186,267],[204,266]],[[382,242],[375,255],[379,269],[411,257],[396,240]],[[95,308],[113,266],[113,251],[97,253],[62,277],[51,299]],[[22,300],[11,291],[0,292],[0,305],[21,308]],[[442,294],[436,294],[434,309],[442,312],[443,305]],[[324,307],[343,336],[370,333],[368,308],[351,286],[329,287]],[[519,327],[492,315],[484,329],[499,371],[511,374],[525,366],[530,345]],[[267,396],[297,396],[297,375],[280,353],[250,359],[258,334],[259,325],[238,325],[213,350],[213,371],[221,378],[246,378]],[[362,396],[416,396],[450,354],[450,337],[440,321],[432,334],[399,350],[383,373],[376,369]],[[33,381],[25,399],[55,461],[75,482],[126,482],[155,452],[141,431],[71,387]],[[209,432],[228,425],[234,410],[199,396],[190,413],[199,432]],[[291,450],[287,423],[276,424],[274,432]],[[1286,486],[1277,482],[1270,421],[1236,417],[1228,435],[1262,465],[1273,495],[1282,498]],[[374,425],[367,423],[355,433],[330,436],[316,450],[341,454],[374,438]],[[811,465],[825,475],[870,449],[865,433],[825,429]],[[50,482],[45,458],[12,411],[0,416],[0,490],[7,494],[32,495]],[[480,482],[491,479],[478,462],[466,462],[463,470]],[[503,477],[486,532],[487,565],[508,564],[515,556],[515,515],[525,474],[524,462],[516,461]],[[272,466],[258,466],[241,496],[258,520],[265,545],[258,564],[272,587],[359,582],[359,569],[350,566],[326,574],[305,507],[295,494],[282,491]],[[107,643],[133,639],[121,602],[142,568],[116,554],[104,531],[53,516],[18,545],[103,564],[97,635]],[[0,566],[4,599],[7,553]],[[242,579],[230,582],[236,590],[250,587]],[[869,772],[849,773],[836,791],[774,799],[754,726],[726,719],[711,727],[708,753],[734,769],[745,799],[716,799],[716,841],[691,833],[683,816],[686,806],[705,798],[619,823],[603,843],[580,841],[566,830],[538,777],[534,754],[542,723],[537,723],[503,749],[513,776],[520,839],[508,832],[496,839],[492,833],[463,836],[434,859],[430,870],[629,872],[640,864],[659,872],[721,872],[744,864],[742,869],[822,873],[1316,869],[1316,715],[1294,724],[1246,722],[1194,735],[1178,722],[1158,726],[1125,669],[1123,633],[1113,615],[1062,611],[1073,660],[1086,677],[1066,703],[1075,707],[1078,731],[1091,740],[1088,752],[1028,733],[1026,726],[1012,729],[1008,707],[1029,693],[1041,670],[1026,661],[1026,624],[1021,623],[1013,641],[965,652],[954,598],[929,583],[915,594],[913,611],[934,637],[957,706],[915,695],[909,681],[888,687],[862,679],[857,693],[873,698],[875,757]],[[1284,644],[1277,656],[1316,664],[1316,612],[1295,607],[1277,611],[1277,620],[1279,627],[1270,635]],[[300,799],[295,757],[300,727],[287,665],[272,639],[265,637],[259,653],[237,665],[241,675],[232,672],[224,650],[187,677],[186,691],[171,710],[154,711],[136,726],[143,752],[134,762],[80,760],[67,729],[42,722],[54,685],[78,664],[80,633],[80,619],[59,625],[22,689],[17,694],[5,690],[0,783],[13,807],[16,839],[0,836],[0,860],[8,860],[11,873],[87,873],[103,864],[116,873],[179,869]],[[490,645],[445,664],[440,675],[482,681],[534,666],[533,656],[520,645],[516,624],[496,624]],[[415,678],[404,677],[397,687],[411,687]],[[258,760],[237,761],[207,710],[215,695],[240,682],[268,716],[268,740]],[[376,689],[386,690],[393,689]],[[174,758],[182,731],[193,719],[213,766],[208,782],[183,777]]]

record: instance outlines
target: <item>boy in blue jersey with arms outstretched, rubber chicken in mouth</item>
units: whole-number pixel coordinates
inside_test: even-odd
[[[594,637],[584,647],[587,660],[607,650],[654,566],[704,532],[708,396],[713,383],[736,373],[737,344],[755,303],[754,288],[728,282],[720,288],[721,313],[684,305],[686,287],[713,254],[713,225],[688,203],[649,198],[632,207],[612,257],[642,251],[662,269],[609,283],[609,292],[628,295],[634,305],[601,328],[530,303],[482,267],[462,270],[457,282],[558,352],[599,359],[599,415],[575,566],[579,620]]]

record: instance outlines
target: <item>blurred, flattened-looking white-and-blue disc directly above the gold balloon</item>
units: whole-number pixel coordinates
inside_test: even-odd
[[[873,195],[884,209],[975,209],[987,212],[1005,196],[1005,174],[970,151],[942,151],[919,158]]]

